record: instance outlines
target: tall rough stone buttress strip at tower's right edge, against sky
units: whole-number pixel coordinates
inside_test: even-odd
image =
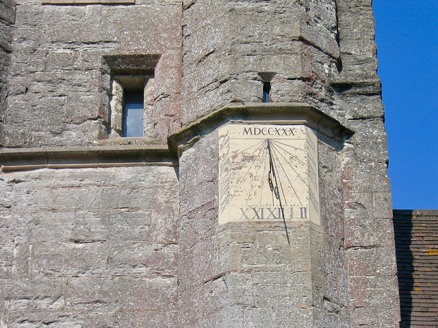
[[[398,327],[400,305],[372,1],[337,1],[339,120],[355,131],[342,154],[351,326]]]

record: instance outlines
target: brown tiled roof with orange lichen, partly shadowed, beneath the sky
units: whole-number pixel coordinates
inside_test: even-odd
[[[402,322],[438,327],[438,210],[394,210]]]

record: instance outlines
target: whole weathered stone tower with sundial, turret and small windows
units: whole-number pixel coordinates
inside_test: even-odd
[[[0,1],[0,327],[398,327],[371,0]]]

